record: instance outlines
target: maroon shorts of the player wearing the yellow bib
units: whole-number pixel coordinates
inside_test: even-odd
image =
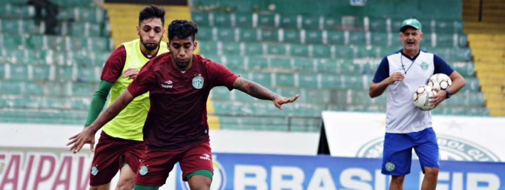
[[[102,131],[95,147],[89,185],[97,186],[110,182],[124,163],[133,171],[137,171],[144,147],[143,141],[115,138]]]

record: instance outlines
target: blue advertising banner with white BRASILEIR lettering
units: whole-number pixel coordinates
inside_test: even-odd
[[[388,189],[378,158],[215,153],[211,189]],[[440,161],[437,189],[505,189],[505,163]],[[189,189],[177,166],[176,188]],[[423,174],[412,160],[405,189]]]

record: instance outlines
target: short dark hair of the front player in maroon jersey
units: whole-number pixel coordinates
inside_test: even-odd
[[[174,20],[168,26],[168,40],[172,41],[174,36],[181,39],[191,36],[194,41],[197,32],[198,27],[195,23],[187,20]]]

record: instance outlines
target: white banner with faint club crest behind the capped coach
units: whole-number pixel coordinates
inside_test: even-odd
[[[323,122],[332,156],[382,157],[385,114],[323,112]],[[433,116],[433,129],[441,160],[505,161],[505,118]]]

